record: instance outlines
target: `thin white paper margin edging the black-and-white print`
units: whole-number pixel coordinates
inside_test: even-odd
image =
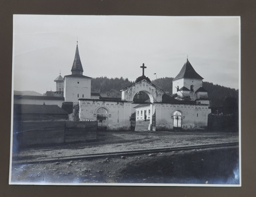
[[[15,17],[21,17],[22,15],[15,15]],[[44,16],[44,15],[40,15]],[[51,15],[47,15],[51,16]],[[54,16],[54,15],[52,15]],[[65,15],[58,15],[58,16],[65,16]],[[72,16],[72,15],[68,15]],[[92,15],[94,16],[94,15]],[[105,16],[105,15],[103,15]],[[117,16],[117,15],[111,15],[111,16]],[[33,15],[31,15],[33,17]],[[77,16],[79,19],[79,16]],[[118,17],[118,16],[117,16]],[[139,16],[137,16],[139,18]],[[9,184],[10,185],[59,185],[59,186],[202,186],[202,187],[239,187],[241,186],[241,18],[240,16],[168,16],[172,19],[226,19],[226,18],[237,18],[239,19],[238,25],[239,25],[239,57],[238,57],[238,84],[239,84],[239,184],[177,184],[177,183],[54,183],[54,182],[12,182],[12,151],[10,151],[10,175],[9,175]],[[158,18],[161,20],[161,18]],[[13,24],[14,29],[15,25]],[[16,33],[16,32],[14,32]],[[13,149],[13,127],[14,127],[14,50],[15,50],[15,42],[13,40],[13,66],[12,66],[12,106],[11,106],[11,150]],[[17,146],[17,145],[16,145]]]

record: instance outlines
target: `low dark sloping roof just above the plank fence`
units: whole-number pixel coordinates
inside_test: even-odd
[[[58,105],[14,104],[17,114],[68,114]]]

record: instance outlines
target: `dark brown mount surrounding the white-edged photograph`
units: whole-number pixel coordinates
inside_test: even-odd
[[[103,0],[104,1],[104,0]],[[1,6],[1,18],[4,23],[1,23],[1,29],[4,30],[3,36],[0,38],[3,42],[1,49],[1,57],[3,58],[3,65],[7,65],[6,72],[1,73],[1,82],[5,84],[3,90],[6,94],[2,99],[5,100],[2,106],[1,120],[6,122],[3,124],[4,131],[1,138],[1,144],[5,147],[10,147],[10,125],[11,125],[11,65],[12,65],[12,15],[13,14],[77,14],[77,15],[93,15],[93,14],[111,14],[111,15],[237,15],[241,16],[241,47],[242,47],[242,61],[241,61],[241,85],[242,97],[242,125],[244,132],[241,133],[242,144],[242,187],[126,187],[126,186],[17,186],[8,185],[9,178],[9,158],[10,149],[3,149],[1,153],[2,168],[1,172],[4,176],[1,177],[1,194],[3,196],[68,196],[68,195],[82,195],[84,192],[90,196],[112,196],[113,192],[117,196],[141,196],[143,195],[159,195],[169,196],[170,193],[175,196],[253,196],[255,194],[255,168],[256,160],[252,157],[255,152],[255,133],[253,131],[253,122],[255,113],[251,110],[255,108],[253,98],[255,93],[251,95],[251,87],[246,84],[253,84],[254,73],[256,72],[252,57],[255,53],[255,19],[256,11],[253,7],[254,1],[245,0],[240,1],[216,1],[214,2],[178,2],[158,1],[157,4],[148,1],[140,1],[138,3],[131,3],[130,1],[105,1],[104,7],[102,3],[84,1],[80,7],[70,6],[69,1],[56,2],[38,2],[26,0],[23,3],[17,1],[6,1]],[[75,4],[76,2],[74,2]],[[148,4],[146,4],[148,3]],[[135,4],[135,5],[134,5]],[[61,5],[61,6],[60,6]],[[66,10],[65,10],[65,9]],[[134,9],[133,9],[134,8]],[[240,92],[241,92],[240,91]],[[241,94],[241,93],[240,93]],[[3,113],[4,112],[4,113]]]

